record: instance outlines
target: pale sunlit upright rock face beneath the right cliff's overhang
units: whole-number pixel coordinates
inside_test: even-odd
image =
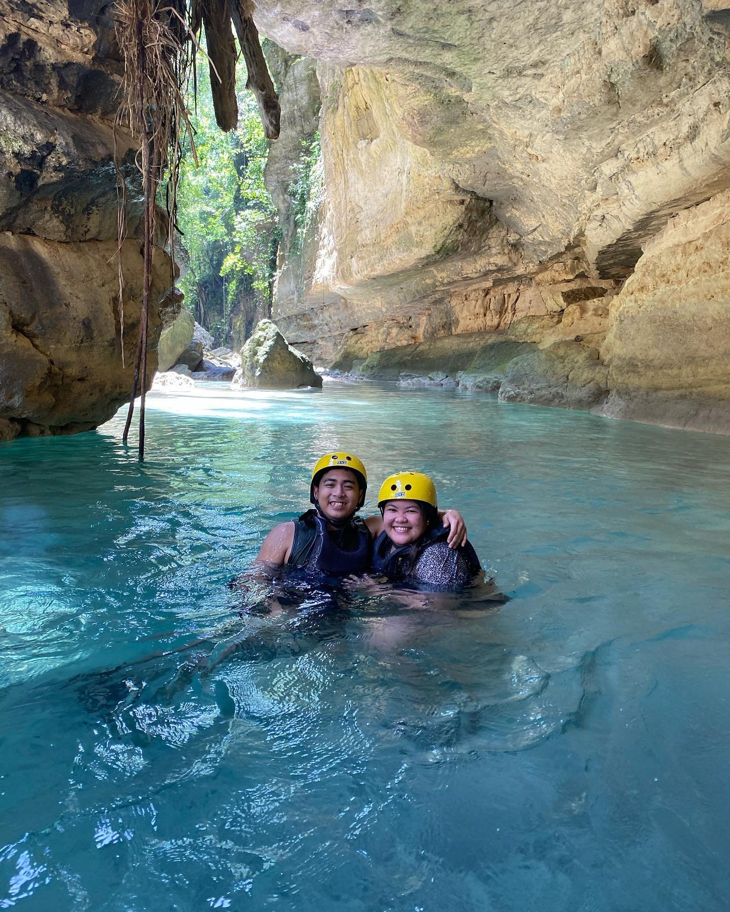
[[[305,293],[287,299],[279,286],[275,313],[298,344],[330,358],[356,326],[418,320],[434,293],[514,275],[520,261],[491,204],[396,129],[387,76],[320,67],[319,78],[325,198],[303,251]]]

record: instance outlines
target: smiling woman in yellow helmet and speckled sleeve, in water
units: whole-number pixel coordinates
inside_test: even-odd
[[[375,539],[372,572],[434,591],[458,589],[481,566],[474,548],[446,544],[449,530],[438,518],[436,488],[422,472],[396,472],[378,495],[383,528]]]

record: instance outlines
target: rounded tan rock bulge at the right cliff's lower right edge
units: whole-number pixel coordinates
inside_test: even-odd
[[[647,244],[600,350],[603,413],[730,428],[730,193],[682,212]],[[680,403],[678,405],[677,403]]]

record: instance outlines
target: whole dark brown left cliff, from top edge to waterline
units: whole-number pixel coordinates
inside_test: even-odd
[[[115,141],[138,184],[112,130],[119,81],[113,5],[0,0],[0,440],[95,427],[129,396],[142,258],[132,204],[122,363]],[[180,306],[170,285],[158,250],[148,384]]]

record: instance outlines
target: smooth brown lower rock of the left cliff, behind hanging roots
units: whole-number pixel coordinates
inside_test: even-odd
[[[113,241],[57,244],[0,235],[0,420],[6,422],[6,438],[87,430],[109,420],[129,398],[141,254],[134,241],[121,252],[129,283],[122,366],[119,280],[110,263],[115,250]],[[151,347],[162,316],[179,307],[167,291],[169,270],[169,261],[156,258]],[[149,384],[157,368],[153,350],[147,365]]]

